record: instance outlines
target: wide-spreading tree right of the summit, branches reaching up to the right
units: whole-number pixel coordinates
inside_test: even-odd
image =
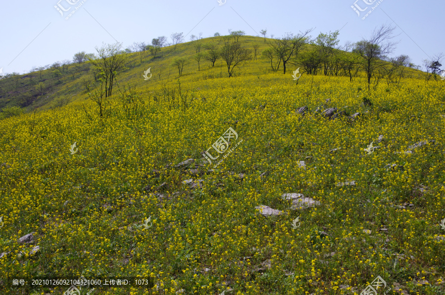
[[[297,36],[294,36],[292,33],[287,33],[282,38],[275,39],[270,43],[274,54],[283,61],[284,74],[286,74],[287,62],[304,49],[309,39],[308,34],[311,32],[312,29],[309,29],[304,33],[299,33]]]

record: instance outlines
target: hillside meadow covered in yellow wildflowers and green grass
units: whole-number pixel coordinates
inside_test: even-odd
[[[1,294],[66,291],[8,277],[80,276],[153,283],[93,295],[358,295],[377,276],[379,294],[445,294],[445,82],[409,70],[369,91],[362,73],[297,84],[296,66],[269,70],[264,39],[241,39],[259,53],[232,78],[221,59],[179,76],[172,60],[193,42],[154,60],[130,53],[117,78],[137,88],[131,101],[116,88],[105,118],[82,88],[86,65],[59,84],[44,73],[36,111],[0,120]],[[321,113],[331,107],[333,120]],[[228,128],[232,151],[209,163]],[[318,203],[291,208],[291,193]]]

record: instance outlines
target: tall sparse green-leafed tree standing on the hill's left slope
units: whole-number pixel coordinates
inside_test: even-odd
[[[99,71],[101,83],[105,83],[105,98],[111,96],[116,75],[127,60],[126,55],[121,54],[120,48],[119,43],[102,45],[100,49],[96,47],[98,57],[89,59],[89,62]]]

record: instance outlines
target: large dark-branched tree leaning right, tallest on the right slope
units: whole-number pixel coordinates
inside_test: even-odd
[[[368,86],[374,74],[385,65],[383,61],[385,56],[396,48],[397,43],[391,42],[395,29],[394,26],[382,25],[374,29],[369,39],[363,39],[356,43],[354,51],[362,58]]]

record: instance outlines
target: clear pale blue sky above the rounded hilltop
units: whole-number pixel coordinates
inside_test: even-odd
[[[74,5],[71,3],[76,2]],[[223,1],[223,0],[222,0]],[[445,52],[443,14],[444,0],[394,1],[382,0],[364,20],[351,8],[356,0],[266,1],[226,0],[84,0],[68,19],[55,5],[71,10],[82,0],[19,0],[0,2],[0,68],[3,73],[29,72],[34,66],[72,59],[78,51],[95,52],[102,42],[123,42],[124,48],[133,42],[145,41],[183,32],[203,33],[203,38],[215,32],[226,35],[228,29],[243,30],[256,36],[267,28],[267,35],[280,37],[286,32],[298,33],[315,28],[320,32],[341,29],[340,44],[368,37],[381,24],[398,25],[395,40],[400,40],[395,55],[407,54],[412,62],[439,52]],[[364,1],[371,3],[367,5]],[[371,9],[378,0],[357,0],[358,7]],[[239,14],[239,15],[238,15]],[[206,16],[207,15],[207,16]],[[204,19],[203,19],[204,18]],[[196,27],[195,27],[196,26]],[[444,62],[445,64],[445,62]]]

